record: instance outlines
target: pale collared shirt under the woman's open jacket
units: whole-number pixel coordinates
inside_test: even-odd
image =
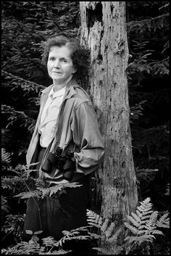
[[[47,147],[54,136],[54,129],[59,115],[59,107],[64,99],[66,86],[54,92],[54,87],[49,92],[48,99],[41,114],[41,123],[38,132],[41,133],[40,144]]]

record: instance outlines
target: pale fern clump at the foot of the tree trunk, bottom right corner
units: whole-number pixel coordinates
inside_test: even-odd
[[[133,235],[126,236],[125,243],[122,245],[117,245],[122,228],[116,229],[114,222],[109,222],[109,219],[103,219],[95,212],[87,210],[88,224],[101,230],[101,247],[93,247],[93,249],[107,255],[117,255],[125,249],[127,255],[131,250],[133,251],[133,248],[140,247],[144,242],[151,243],[154,241],[155,235],[163,236],[162,231],[157,228],[169,228],[169,214],[166,212],[157,220],[159,212],[153,211],[152,206],[148,197],[140,202],[135,212],[128,215],[129,222],[124,224]],[[99,236],[94,234],[91,236],[99,239]]]

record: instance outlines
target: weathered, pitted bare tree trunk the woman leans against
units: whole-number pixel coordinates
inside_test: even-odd
[[[96,173],[96,198],[101,198],[101,215],[121,226],[138,203],[126,76],[125,1],[80,1],[80,17],[81,44],[91,49],[90,94],[105,144],[104,162]]]

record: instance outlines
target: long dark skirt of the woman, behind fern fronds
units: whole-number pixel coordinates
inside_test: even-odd
[[[41,160],[41,150],[38,160]],[[27,230],[43,231],[38,237],[53,236],[62,238],[62,231],[70,231],[80,226],[86,226],[86,209],[88,202],[88,176],[80,178],[78,183],[83,186],[67,188],[58,191],[43,199],[29,198],[24,223],[24,239],[29,240],[31,235]],[[55,185],[54,185],[55,186]]]

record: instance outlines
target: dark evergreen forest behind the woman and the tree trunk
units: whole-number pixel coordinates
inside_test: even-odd
[[[169,210],[169,2],[128,1],[128,88],[133,159],[140,200]],[[79,1],[1,2],[1,148],[11,165],[25,165],[41,89],[49,86],[41,62],[51,35],[80,39]],[[4,173],[3,173],[4,172]],[[5,170],[2,175],[7,176]],[[11,214],[17,199],[4,189]]]

